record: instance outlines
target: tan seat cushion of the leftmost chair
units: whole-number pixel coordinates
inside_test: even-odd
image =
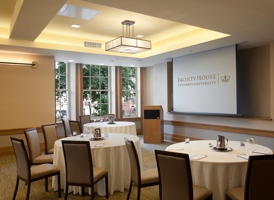
[[[30,167],[30,179],[60,172],[59,168],[52,164],[42,164]]]

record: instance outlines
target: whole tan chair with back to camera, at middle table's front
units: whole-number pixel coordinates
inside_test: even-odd
[[[91,199],[94,199],[94,184],[105,178],[105,192],[108,199],[108,170],[93,167],[89,141],[62,140],[66,167],[65,200],[67,200],[69,185],[82,187],[82,196],[85,196],[85,187],[91,188]],[[81,166],[79,168],[79,166]]]

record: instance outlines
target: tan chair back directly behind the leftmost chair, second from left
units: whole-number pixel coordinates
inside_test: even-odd
[[[40,142],[36,128],[24,130],[24,134],[28,144],[28,153],[30,157],[30,162],[33,159],[41,155]]]

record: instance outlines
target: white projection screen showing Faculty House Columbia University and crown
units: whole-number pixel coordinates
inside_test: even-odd
[[[237,114],[236,45],[173,58],[171,112]]]

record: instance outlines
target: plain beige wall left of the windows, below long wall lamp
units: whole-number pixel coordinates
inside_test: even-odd
[[[0,130],[55,123],[54,57],[0,52],[0,60],[37,62],[36,69],[0,64]],[[11,146],[10,136],[0,136],[0,146]]]

